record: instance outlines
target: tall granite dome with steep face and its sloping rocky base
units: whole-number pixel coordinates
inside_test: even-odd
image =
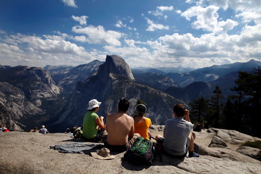
[[[133,114],[137,99],[140,98],[147,103],[146,116],[157,124],[164,124],[167,118],[173,116],[174,103],[182,103],[162,91],[135,82],[128,64],[122,57],[107,56],[97,73],[89,77],[85,83],[77,83],[66,107],[57,115],[53,131],[60,131],[64,126],[82,126],[91,99],[102,102],[97,114],[106,118],[108,113],[117,111],[117,104],[122,97],[130,101],[127,112],[129,115]]]

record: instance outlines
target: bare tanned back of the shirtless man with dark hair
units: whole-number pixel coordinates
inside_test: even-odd
[[[126,145],[134,135],[134,120],[123,111],[106,117],[107,142],[110,145]]]

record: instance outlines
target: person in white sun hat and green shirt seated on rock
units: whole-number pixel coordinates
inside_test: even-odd
[[[104,129],[103,117],[96,114],[99,110],[101,102],[96,99],[89,101],[88,112],[83,119],[83,138],[89,142],[97,143],[102,139]],[[97,127],[98,126],[98,127]]]

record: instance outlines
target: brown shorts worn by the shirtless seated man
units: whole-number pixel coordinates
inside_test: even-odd
[[[106,148],[110,149],[110,151],[112,151],[112,152],[126,151],[134,143],[134,141],[138,138],[137,135],[134,135],[132,138],[128,138],[128,142],[126,145],[110,145],[107,143],[107,135],[108,135],[108,132],[105,130],[103,132],[102,140],[103,140],[104,146]]]

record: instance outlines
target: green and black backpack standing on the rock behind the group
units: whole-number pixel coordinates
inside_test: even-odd
[[[134,144],[126,150],[124,159],[136,165],[151,165],[154,160],[153,155],[153,143],[143,137],[138,137]]]

